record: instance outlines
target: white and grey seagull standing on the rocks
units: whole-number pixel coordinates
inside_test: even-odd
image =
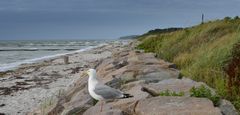
[[[124,93],[120,90],[111,88],[103,83],[101,83],[97,78],[97,73],[95,69],[89,69],[87,71],[89,76],[88,78],[88,92],[90,93],[91,97],[98,101],[106,101],[110,99],[124,99],[124,98],[131,98],[133,97],[130,94]],[[102,105],[101,103],[101,112],[102,112]]]

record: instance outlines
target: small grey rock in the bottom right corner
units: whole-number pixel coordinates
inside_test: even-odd
[[[228,100],[221,100],[219,108],[223,115],[238,115],[237,110]]]

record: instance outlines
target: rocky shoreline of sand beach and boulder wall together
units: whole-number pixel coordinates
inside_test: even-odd
[[[21,86],[29,89],[17,92],[12,92],[15,90],[11,89],[4,93],[0,89],[0,104],[5,104],[0,106],[0,112],[28,115],[238,114],[227,100],[221,100],[219,106],[214,106],[207,98],[190,97],[189,90],[192,87],[208,86],[181,76],[175,64],[157,59],[153,53],[136,50],[135,44],[136,41],[128,45],[106,45],[69,55],[69,64],[64,64],[62,58],[57,58],[32,64],[30,67],[26,65],[23,69],[5,74],[5,80],[0,81],[1,87],[7,86],[11,89],[13,86]],[[87,77],[82,76],[82,72],[87,68],[96,68],[98,77],[104,83],[134,97],[110,100],[103,105],[103,112],[100,112],[100,103],[90,97]],[[166,90],[183,92],[183,95],[160,96],[160,93]],[[49,91],[55,92],[55,96],[52,97]],[[211,89],[211,92],[215,93],[214,89]],[[33,95],[37,95],[38,99],[31,105]],[[17,102],[19,100],[20,102]],[[16,110],[22,111],[19,113]]]

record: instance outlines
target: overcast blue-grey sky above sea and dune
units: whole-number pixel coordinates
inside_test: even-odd
[[[116,39],[239,11],[240,0],[0,0],[0,40]]]

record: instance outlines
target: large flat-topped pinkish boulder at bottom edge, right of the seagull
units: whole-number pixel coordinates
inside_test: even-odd
[[[140,100],[136,115],[221,115],[218,108],[205,98],[153,97]]]

